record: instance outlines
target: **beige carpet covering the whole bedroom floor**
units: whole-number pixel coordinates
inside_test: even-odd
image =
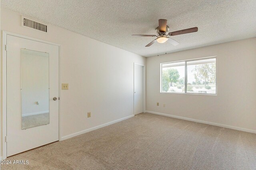
[[[256,134],[141,113],[7,160],[5,169],[250,170],[256,169]]]

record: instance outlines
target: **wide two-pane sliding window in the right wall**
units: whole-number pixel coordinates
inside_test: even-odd
[[[161,92],[216,94],[216,57],[161,63]]]

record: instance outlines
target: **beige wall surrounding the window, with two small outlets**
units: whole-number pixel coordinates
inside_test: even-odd
[[[217,56],[217,96],[160,93],[160,63],[211,56]],[[256,132],[256,38],[149,57],[146,65],[147,111]]]

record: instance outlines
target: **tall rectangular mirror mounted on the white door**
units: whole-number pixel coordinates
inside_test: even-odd
[[[49,124],[49,53],[21,49],[21,72],[21,129]]]

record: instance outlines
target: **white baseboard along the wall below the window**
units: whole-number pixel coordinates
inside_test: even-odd
[[[246,129],[246,128],[242,128],[242,127],[235,127],[235,126],[230,126],[230,125],[222,125],[222,124],[219,124],[219,123],[213,123],[213,122],[209,122],[209,121],[202,121],[202,120],[191,119],[191,118],[187,118],[187,117],[169,115],[169,114],[165,114],[165,113],[158,113],[158,112],[154,112],[154,111],[146,111],[146,113],[152,113],[152,114],[156,114],[156,115],[162,115],[162,116],[173,117],[173,118],[177,118],[177,119],[183,119],[183,120],[188,120],[188,121],[194,121],[194,122],[204,123],[204,124],[208,124],[208,125],[214,125],[214,126],[219,126],[219,127],[225,127],[225,128],[229,128],[229,129],[235,129],[235,130],[238,130],[238,131],[256,133],[256,130]]]

